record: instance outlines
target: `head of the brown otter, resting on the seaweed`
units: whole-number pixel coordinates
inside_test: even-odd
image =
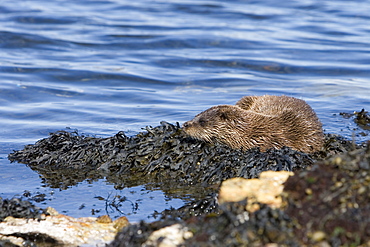
[[[206,142],[221,142],[230,145],[236,122],[243,116],[243,109],[233,105],[213,106],[185,122],[185,133]]]

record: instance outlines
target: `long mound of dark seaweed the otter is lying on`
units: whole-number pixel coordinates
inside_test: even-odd
[[[9,154],[29,165],[46,183],[63,188],[106,176],[120,186],[157,183],[179,187],[217,184],[232,177],[255,178],[262,171],[295,171],[312,165],[310,155],[284,147],[260,152],[211,145],[187,138],[178,125],[162,122],[133,137],[111,138],[59,131]],[[73,172],[72,172],[73,171]]]

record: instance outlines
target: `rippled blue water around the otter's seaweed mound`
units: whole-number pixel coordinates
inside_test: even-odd
[[[7,154],[66,127],[107,137],[182,123],[244,95],[302,98],[327,133],[368,140],[339,113],[370,109],[369,20],[368,1],[2,0],[0,196],[151,220],[183,201],[104,180],[51,189]],[[103,200],[118,197],[121,213]]]

